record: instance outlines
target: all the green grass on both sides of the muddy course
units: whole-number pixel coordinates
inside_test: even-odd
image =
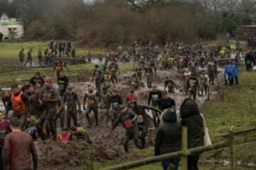
[[[38,47],[46,47],[46,42],[0,42],[0,88],[7,87],[13,82],[19,82],[18,79],[29,79],[35,72],[42,72],[46,76],[53,76],[52,68],[28,68],[18,64],[18,51],[23,47],[25,51],[31,47],[34,49],[33,58],[36,58]],[[97,54],[99,50],[92,50],[92,54]],[[78,49],[78,55],[85,55],[87,49]],[[80,64],[68,66],[71,72],[69,76],[75,74],[84,74],[92,72],[93,64]],[[132,70],[131,65],[121,66],[122,72]],[[239,86],[220,86],[220,91],[214,100],[206,101],[201,113],[205,115],[210,136],[213,142],[220,140],[219,136],[227,134],[231,126],[235,130],[245,130],[256,128],[256,74],[255,72],[246,72],[244,67],[240,67],[240,85]],[[238,160],[245,163],[256,163],[255,142],[247,145],[236,146],[236,155]],[[139,151],[134,149],[127,157],[130,159],[116,160],[105,164],[95,163],[95,169],[105,166],[137,160],[139,158],[151,157],[153,148]],[[208,152],[203,154],[202,159],[219,162],[220,159],[229,159],[227,149],[218,152]],[[143,166],[138,169],[161,169],[159,164]],[[229,169],[229,166],[220,164],[201,163],[201,169]],[[240,167],[239,169],[248,169]],[[252,168],[253,169],[253,168]]]

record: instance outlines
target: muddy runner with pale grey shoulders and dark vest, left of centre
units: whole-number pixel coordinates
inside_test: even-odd
[[[97,91],[95,91],[92,88],[92,85],[88,85],[87,89],[88,89],[88,91],[85,93],[85,96],[84,96],[83,110],[85,111],[85,116],[88,120],[89,128],[91,128],[92,123],[91,123],[91,120],[90,120],[90,113],[92,111],[95,114],[96,126],[98,125],[98,98],[99,98],[99,94],[97,93]],[[85,103],[86,103],[86,108],[85,108]]]

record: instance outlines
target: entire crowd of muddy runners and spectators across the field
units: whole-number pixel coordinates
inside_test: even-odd
[[[24,63],[24,50],[19,52],[21,64],[32,62],[33,50],[28,50],[28,60]],[[52,40],[44,52],[38,50],[38,62],[53,60],[53,72],[57,79],[44,77],[36,72],[34,77],[24,82],[23,86],[11,85],[11,91],[2,96],[5,111],[0,113],[0,149],[3,150],[1,166],[6,169],[29,169],[33,156],[34,169],[37,166],[36,149],[33,140],[85,140],[91,143],[87,128],[99,125],[99,110],[109,118],[112,129],[122,124],[126,130],[123,142],[124,151],[129,152],[128,142],[143,149],[146,147],[146,134],[150,121],[156,128],[155,154],[175,152],[181,149],[181,125],[188,126],[188,147],[204,145],[204,120],[198,111],[196,99],[199,96],[210,98],[210,88],[218,82],[218,60],[224,60],[223,77],[225,85],[238,84],[238,64],[244,55],[240,45],[203,47],[184,45],[183,42],[167,42],[164,50],[149,42],[146,46],[134,42],[128,50],[119,46],[102,53],[98,59],[102,64],[95,64],[92,74],[92,84],[85,87],[83,98],[73,91],[64,69],[68,69],[60,57],[75,57],[75,48],[71,42],[56,42]],[[91,60],[90,52],[87,60]],[[44,58],[44,59],[43,59]],[[255,63],[255,53],[245,51],[245,64],[248,69]],[[248,62],[250,60],[250,62]],[[147,105],[140,104],[136,91],[131,90],[126,98],[122,98],[116,89],[119,86],[119,62],[130,62],[134,67],[136,81],[145,81],[151,89]],[[175,70],[182,74],[177,83],[166,77],[162,82],[164,89],[158,89],[154,82],[162,70]],[[90,78],[90,77],[88,77]],[[58,89],[54,82],[57,82]],[[170,94],[181,91],[187,96],[183,101],[179,115],[176,101]],[[151,116],[149,116],[151,110]],[[90,113],[95,118],[91,120]],[[58,125],[59,124],[59,125]],[[62,133],[57,132],[57,128]],[[64,133],[65,132],[65,133]],[[195,135],[196,134],[196,135]],[[97,135],[97,134],[95,134]],[[20,142],[23,141],[23,142]],[[14,152],[16,154],[14,154]],[[180,159],[170,159],[162,162],[164,169],[173,164],[178,169]],[[198,169],[198,155],[188,157],[189,169]],[[11,163],[11,164],[8,164]]]

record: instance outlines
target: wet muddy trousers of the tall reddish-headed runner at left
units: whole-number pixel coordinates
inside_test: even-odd
[[[55,126],[55,112],[46,113],[46,137],[50,138],[50,133],[53,135],[53,140],[57,139]]]

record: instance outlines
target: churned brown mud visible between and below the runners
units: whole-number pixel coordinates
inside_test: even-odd
[[[130,90],[134,89],[138,96],[138,103],[147,103],[148,94],[151,89],[146,87],[145,81],[143,81],[144,87],[131,86],[131,84],[134,84],[133,74],[134,72],[121,74],[119,84],[115,89],[117,89],[118,94],[120,94],[122,98],[124,98]],[[176,70],[172,70],[171,72],[158,71],[157,75],[153,78],[153,84],[156,84],[160,90],[164,90],[165,77],[171,77],[176,84],[179,84],[182,74],[177,73]],[[91,77],[87,77],[87,79],[91,80]],[[82,101],[83,94],[85,94],[87,84],[92,84],[92,81],[70,84],[79,95],[80,101]],[[211,91],[211,94],[216,94],[216,91]],[[176,90],[174,94],[170,94],[170,96],[176,101],[177,110],[181,106],[183,99],[187,97],[182,91],[178,90]],[[202,106],[205,100],[206,96],[198,97],[198,105]],[[93,120],[93,113],[91,113],[90,116]],[[125,159],[126,156],[122,147],[125,132],[124,128],[119,125],[110,134],[111,118],[105,115],[104,110],[100,110],[100,125],[95,127],[94,124],[92,128],[86,129],[92,140],[92,145],[87,145],[85,142],[36,142],[40,160],[39,166],[41,169],[63,169],[67,167],[69,167],[68,169],[91,169],[90,160],[95,162],[107,162],[114,161],[120,157],[124,157]],[[154,126],[150,122],[149,132],[146,136],[147,147],[154,145],[154,132]],[[130,144],[132,143],[131,141]],[[130,145],[130,147],[130,152],[132,152],[134,145]]]

